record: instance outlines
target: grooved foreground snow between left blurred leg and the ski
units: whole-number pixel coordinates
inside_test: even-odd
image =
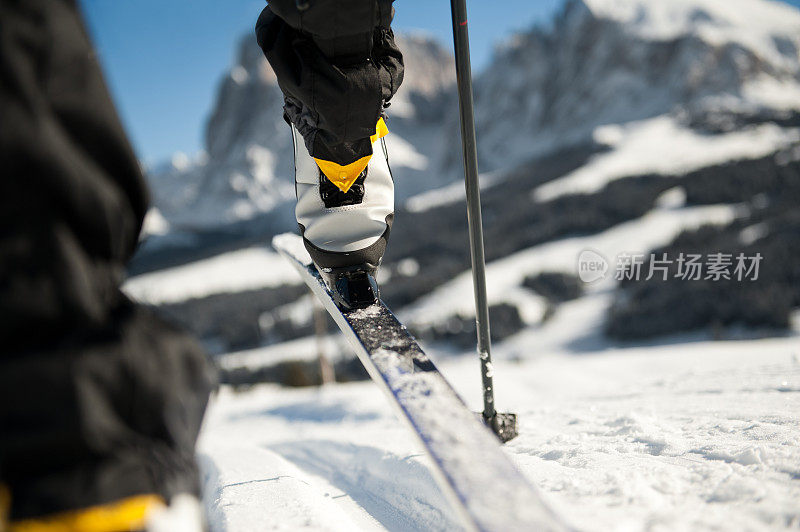
[[[223,389],[200,442],[212,530],[459,529],[427,458],[365,384]]]

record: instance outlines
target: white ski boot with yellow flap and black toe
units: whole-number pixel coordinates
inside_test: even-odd
[[[311,157],[292,126],[295,215],[303,243],[342,310],[374,304],[376,274],[394,216],[394,182],[379,120],[373,154],[341,166]]]

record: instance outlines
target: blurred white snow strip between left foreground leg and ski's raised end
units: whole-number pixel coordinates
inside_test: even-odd
[[[292,267],[277,253],[255,247],[138,275],[128,279],[123,290],[137,301],[160,305],[299,282]]]

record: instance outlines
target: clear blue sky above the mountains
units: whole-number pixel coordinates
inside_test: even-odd
[[[668,1],[668,0],[664,0]],[[473,67],[515,30],[546,22],[563,0],[468,2]],[[800,0],[789,0],[800,6]],[[264,0],[83,0],[114,100],[148,164],[202,148],[206,116],[239,38]],[[397,0],[393,27],[423,29],[452,48],[450,3]]]

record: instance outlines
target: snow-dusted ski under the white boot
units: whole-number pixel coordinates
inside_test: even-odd
[[[408,422],[468,530],[567,530],[386,305],[341,311],[301,237],[278,235],[272,245],[319,298]]]

